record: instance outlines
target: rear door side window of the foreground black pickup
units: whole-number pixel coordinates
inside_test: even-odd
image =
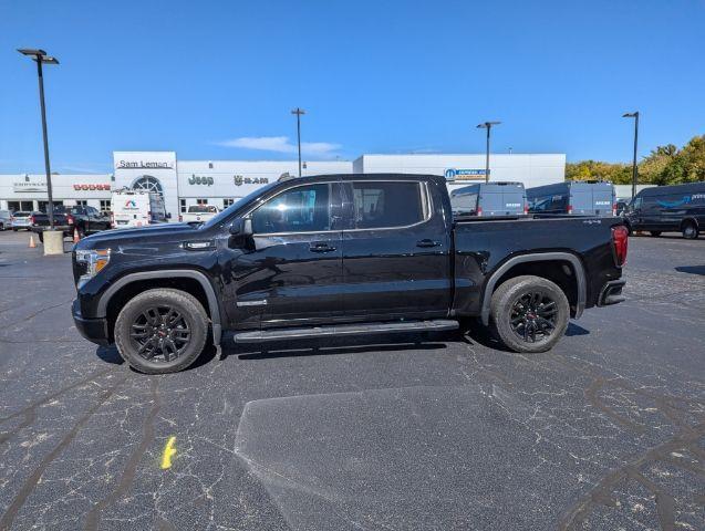
[[[425,194],[419,183],[353,183],[354,228],[405,227],[425,219]]]

